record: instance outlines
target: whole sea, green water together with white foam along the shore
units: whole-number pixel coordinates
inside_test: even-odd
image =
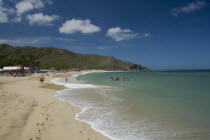
[[[210,139],[210,70],[83,73],[52,82],[66,86],[57,98],[82,108],[77,120],[113,140]]]

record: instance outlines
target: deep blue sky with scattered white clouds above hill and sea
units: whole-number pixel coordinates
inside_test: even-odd
[[[0,44],[210,68],[210,0],[0,0]]]

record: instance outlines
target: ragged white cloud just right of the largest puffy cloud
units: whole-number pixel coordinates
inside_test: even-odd
[[[120,27],[108,29],[106,36],[111,37],[115,41],[123,41],[138,37],[138,34],[132,33],[130,29],[121,29]]]

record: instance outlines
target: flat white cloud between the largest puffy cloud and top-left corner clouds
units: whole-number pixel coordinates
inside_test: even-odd
[[[28,15],[27,19],[29,20],[30,25],[52,25],[54,20],[59,18],[58,15],[43,15],[43,13],[36,13],[33,15]]]

